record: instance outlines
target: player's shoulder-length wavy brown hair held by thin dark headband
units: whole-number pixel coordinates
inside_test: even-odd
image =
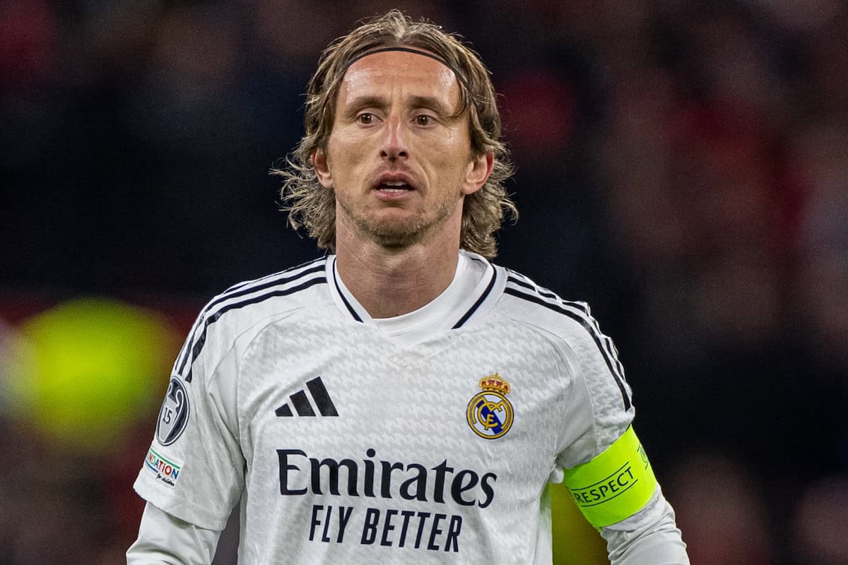
[[[427,21],[413,21],[396,9],[365,22],[321,53],[306,91],[306,133],[286,158],[286,168],[271,169],[271,174],[283,179],[280,194],[288,222],[294,229],[304,226],[319,247],[335,251],[336,197],[318,182],[312,155],[319,149],[326,152],[338,89],[350,62],[377,47],[400,46],[427,49],[462,75],[459,114],[469,113],[471,153],[474,157],[493,153],[494,169],[486,184],[465,199],[460,246],[494,258],[494,233],[505,216],[516,219],[518,211],[505,190],[513,169],[509,152],[500,141],[500,114],[488,69],[477,53],[455,36]]]

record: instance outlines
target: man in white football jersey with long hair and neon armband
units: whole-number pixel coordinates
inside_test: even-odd
[[[611,561],[688,563],[583,303],[494,266],[488,71],[392,11],[322,55],[283,196],[332,254],[204,308],[136,482],[128,562],[550,563],[566,480]],[[461,251],[460,251],[461,249]]]

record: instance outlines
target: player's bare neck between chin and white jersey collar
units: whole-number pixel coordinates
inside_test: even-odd
[[[454,280],[459,230],[441,230],[430,241],[397,248],[349,235],[337,230],[338,274],[371,318],[393,318],[417,310]]]

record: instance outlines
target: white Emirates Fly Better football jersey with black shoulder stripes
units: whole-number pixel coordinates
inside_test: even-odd
[[[135,488],[205,529],[241,501],[242,563],[549,564],[546,485],[632,419],[582,302],[460,252],[375,320],[329,256],[209,302]]]

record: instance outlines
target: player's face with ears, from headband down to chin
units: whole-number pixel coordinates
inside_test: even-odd
[[[313,163],[336,196],[337,236],[410,246],[440,230],[459,237],[462,201],[483,186],[493,157],[471,156],[460,85],[444,64],[388,51],[344,75],[327,151]]]

